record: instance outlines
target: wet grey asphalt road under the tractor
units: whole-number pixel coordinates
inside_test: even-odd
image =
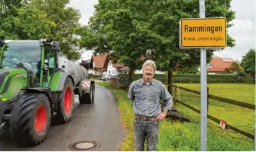
[[[69,144],[79,140],[99,142],[100,147],[93,151],[118,151],[125,128],[114,94],[96,85],[94,103],[80,105],[75,96],[71,121],[50,126],[47,138],[39,146],[18,147],[10,136],[6,130],[0,132],[0,151],[71,151]]]

